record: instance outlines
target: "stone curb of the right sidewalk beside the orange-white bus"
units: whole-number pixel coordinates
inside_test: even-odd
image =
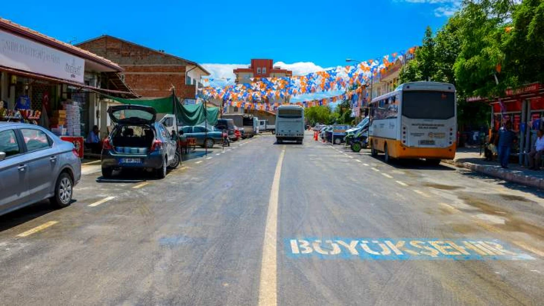
[[[474,172],[484,173],[492,177],[500,178],[512,183],[518,183],[526,186],[535,187],[544,190],[544,179],[526,176],[524,174],[514,173],[502,168],[487,167],[472,163],[461,163],[456,160],[442,160],[442,163],[454,165],[461,168],[467,168]]]

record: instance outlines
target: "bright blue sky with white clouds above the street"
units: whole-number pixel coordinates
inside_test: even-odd
[[[295,74],[345,65],[421,43],[458,0],[5,1],[0,16],[66,42],[118,36],[207,65],[214,77],[251,58]],[[150,5],[151,4],[151,5]],[[225,75],[224,75],[225,74]]]

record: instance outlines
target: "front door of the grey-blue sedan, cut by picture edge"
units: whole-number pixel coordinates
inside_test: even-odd
[[[0,130],[0,214],[28,201],[28,165],[15,129]]]

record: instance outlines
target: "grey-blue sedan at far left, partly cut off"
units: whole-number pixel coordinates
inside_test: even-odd
[[[71,142],[33,124],[0,122],[0,215],[43,199],[66,207],[79,179]]]

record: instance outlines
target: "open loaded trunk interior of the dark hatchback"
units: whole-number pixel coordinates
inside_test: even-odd
[[[147,154],[155,138],[154,129],[147,125],[120,125],[112,135],[115,152],[125,154]]]

